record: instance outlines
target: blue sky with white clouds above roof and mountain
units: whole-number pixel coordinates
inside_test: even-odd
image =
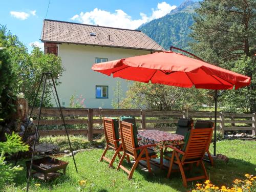
[[[183,0],[51,0],[48,19],[101,26],[136,29],[164,16]],[[42,47],[42,22],[49,1],[9,0],[1,2],[0,24],[7,25],[31,51],[31,43]]]

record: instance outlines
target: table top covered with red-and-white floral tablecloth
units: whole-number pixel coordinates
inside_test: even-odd
[[[168,132],[163,132],[159,130],[142,130],[138,131],[138,137],[139,138],[147,138],[150,140],[154,140],[155,142],[160,142],[160,141],[183,141],[184,136],[182,135],[177,135],[173,133],[168,133]]]

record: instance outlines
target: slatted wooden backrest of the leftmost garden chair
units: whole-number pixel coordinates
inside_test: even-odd
[[[103,126],[104,126],[106,143],[116,146],[116,143],[114,142],[114,140],[116,140],[115,130],[114,130],[114,119],[104,117]]]

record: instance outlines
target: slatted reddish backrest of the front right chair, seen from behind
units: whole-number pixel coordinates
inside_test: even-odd
[[[211,141],[212,131],[212,128],[192,129],[181,161],[202,159]]]

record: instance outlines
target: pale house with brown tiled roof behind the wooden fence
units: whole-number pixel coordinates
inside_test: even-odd
[[[41,41],[45,53],[61,57],[65,72],[57,87],[62,106],[69,106],[70,97],[82,95],[87,108],[112,108],[113,88],[121,81],[91,70],[96,62],[164,51],[154,40],[138,30],[44,20]]]

